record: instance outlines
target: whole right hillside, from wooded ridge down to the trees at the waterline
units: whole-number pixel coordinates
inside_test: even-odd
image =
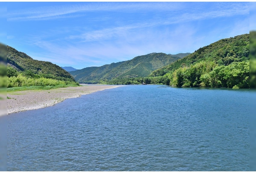
[[[249,45],[249,34],[221,39],[153,71],[149,79],[177,87],[249,88]]]

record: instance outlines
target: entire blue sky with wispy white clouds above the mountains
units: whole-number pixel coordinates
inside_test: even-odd
[[[5,5],[1,42],[76,69],[152,52],[193,53],[250,29],[249,2],[7,2],[0,14]]]

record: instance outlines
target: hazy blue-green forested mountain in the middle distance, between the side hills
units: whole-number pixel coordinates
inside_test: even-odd
[[[70,73],[79,83],[95,84],[108,82],[113,79],[145,77],[152,71],[170,64],[179,58],[164,53],[151,53],[137,56],[128,61],[107,64],[101,67],[87,67],[81,70],[70,71]]]

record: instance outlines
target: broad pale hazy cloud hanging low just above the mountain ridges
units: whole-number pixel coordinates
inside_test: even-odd
[[[137,34],[135,34],[136,32]],[[142,32],[144,31],[127,33],[124,37],[132,37],[132,39],[125,41],[118,39],[115,42],[111,41],[111,44],[108,41],[101,41],[59,45],[51,41],[37,40],[34,41],[34,44],[42,48],[43,51],[40,55],[33,53],[32,57],[56,64],[65,62],[65,64],[73,65],[76,68],[84,68],[124,61],[151,52],[181,53],[187,51],[186,48],[195,46],[195,41],[200,42],[200,40],[193,39],[194,29],[186,25],[171,31],[173,34],[169,37],[166,37],[170,33],[168,29],[161,33],[147,31],[145,35],[141,34]],[[183,33],[182,36],[181,33]],[[170,42],[170,40],[174,42]]]

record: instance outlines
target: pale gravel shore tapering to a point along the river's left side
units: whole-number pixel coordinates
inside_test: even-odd
[[[109,88],[120,86],[113,85],[84,85],[82,87],[67,87],[51,90],[26,90],[8,92],[7,115],[11,113],[39,109],[52,106],[68,98],[79,97]]]

